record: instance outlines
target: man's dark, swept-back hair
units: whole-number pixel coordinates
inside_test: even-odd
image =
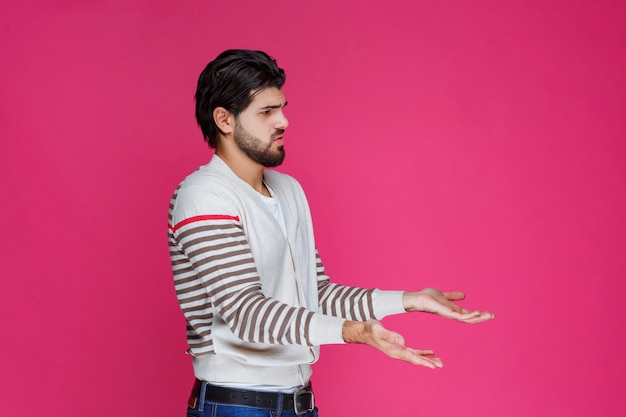
[[[235,117],[246,109],[254,95],[267,87],[282,88],[285,72],[262,51],[231,49],[209,62],[198,79],[196,120],[204,139],[215,148],[219,128],[213,110],[223,107]]]

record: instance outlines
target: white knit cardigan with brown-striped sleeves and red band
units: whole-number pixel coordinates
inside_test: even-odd
[[[319,345],[344,343],[344,321],[403,312],[402,292],[330,284],[309,206],[292,177],[265,171],[287,236],[260,194],[217,156],[170,204],[169,243],[198,379],[297,386]]]

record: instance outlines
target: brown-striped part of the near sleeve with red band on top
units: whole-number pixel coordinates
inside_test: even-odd
[[[214,312],[244,341],[313,345],[309,328],[315,313],[262,293],[239,217],[207,214],[171,224],[170,216],[169,245],[194,355],[213,351]]]

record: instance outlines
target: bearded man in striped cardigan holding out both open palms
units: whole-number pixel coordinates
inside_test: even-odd
[[[193,416],[317,416],[309,383],[319,346],[365,343],[438,368],[378,321],[425,311],[493,318],[453,303],[462,293],[381,291],[331,283],[300,185],[285,157],[285,75],[260,51],[229,50],[204,69],[196,118],[215,155],[175,191],[169,245],[196,376]]]

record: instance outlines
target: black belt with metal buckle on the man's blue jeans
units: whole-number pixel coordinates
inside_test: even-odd
[[[192,398],[200,398],[203,382],[196,379],[191,391]],[[294,410],[297,415],[305,414],[315,407],[311,384],[293,394],[281,392],[250,391],[237,388],[220,387],[206,383],[204,400],[227,405],[245,405],[248,407],[276,410],[282,398],[283,410]],[[190,404],[191,406],[191,401]],[[193,408],[193,407],[192,407]]]

